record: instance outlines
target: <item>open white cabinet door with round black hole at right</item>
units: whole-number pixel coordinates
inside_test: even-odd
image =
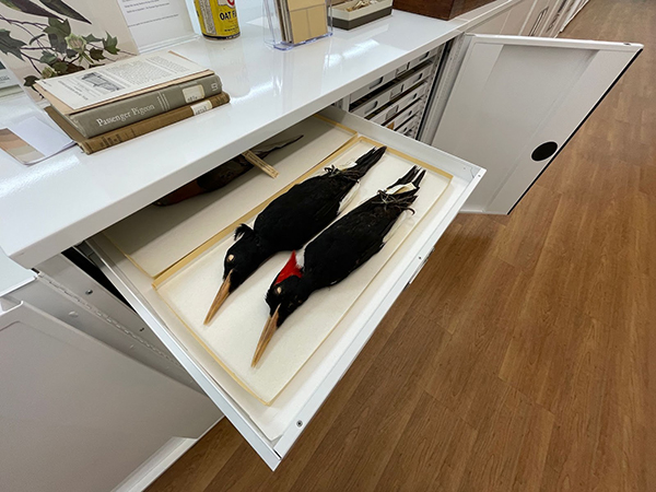
[[[497,214],[511,212],[642,50],[515,36],[459,43],[422,140],[485,168],[462,210]]]

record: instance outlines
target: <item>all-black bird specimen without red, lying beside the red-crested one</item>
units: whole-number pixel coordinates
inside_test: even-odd
[[[303,247],[330,224],[352,197],[353,187],[386,150],[386,147],[374,148],[345,169],[326,168],[325,174],[293,186],[269,203],[253,229],[241,224],[235,231],[237,242],[225,254],[223,283],[204,324],[210,323],[227,296],[273,254]]]

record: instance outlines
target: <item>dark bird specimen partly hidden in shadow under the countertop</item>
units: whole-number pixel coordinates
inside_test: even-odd
[[[253,153],[255,153],[255,155],[257,155],[260,159],[265,159],[274,150],[288,147],[302,138],[303,136],[298,134],[290,139],[258,145],[253,149]],[[253,164],[246,161],[246,159],[243,155],[237,155],[236,157],[231,159],[226,163],[214,167],[213,169],[207,172],[202,176],[194,179],[192,181],[187,183],[186,185],[180,186],[178,189],[160,198],[157,201],[154,202],[154,204],[159,207],[172,206],[175,203],[179,203],[180,201],[187,200],[191,197],[196,197],[197,195],[214,191],[219,188],[223,188],[229,183],[234,181],[236,178],[247,173],[251,168]]]

